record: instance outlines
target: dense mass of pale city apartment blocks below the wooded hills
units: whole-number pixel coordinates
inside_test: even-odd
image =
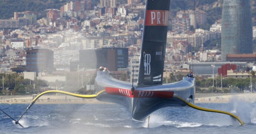
[[[24,11],[15,12],[13,19],[0,20],[5,22],[0,27],[5,24],[15,27],[0,30],[1,63],[6,68],[3,70],[26,66],[28,48],[54,51],[54,70],[74,70],[70,67],[78,65],[81,59],[79,50],[124,47],[128,48],[128,57],[135,60],[140,56],[144,21],[141,14],[144,14],[145,3],[127,0],[120,4],[113,0],[112,3],[116,4],[109,6],[111,1],[106,2],[70,1],[63,3],[60,9],[46,10],[43,17],[38,12]],[[183,64],[191,63],[192,59],[194,62],[221,61],[221,19],[216,20],[209,30],[204,30],[201,27],[208,24],[209,16],[206,11],[196,9],[194,13],[191,9],[185,9],[185,12],[180,10],[169,17],[165,69],[188,69],[183,68]],[[193,27],[196,28],[195,34]],[[255,26],[252,34],[256,38]],[[192,55],[193,50],[195,52]],[[15,62],[6,62],[4,59]],[[128,73],[131,64],[129,60]],[[94,69],[97,69],[96,66],[99,65],[95,64]]]

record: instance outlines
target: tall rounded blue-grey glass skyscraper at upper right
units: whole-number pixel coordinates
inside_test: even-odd
[[[253,53],[250,0],[224,0],[221,23],[221,60],[227,54]]]

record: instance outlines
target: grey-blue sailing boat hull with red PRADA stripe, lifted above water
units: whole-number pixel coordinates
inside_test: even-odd
[[[96,92],[105,90],[96,98],[122,104],[127,107],[132,118],[144,121],[151,113],[163,107],[184,107],[187,103],[194,103],[194,78],[184,77],[182,81],[155,86],[137,86],[132,95],[132,83],[116,80],[106,72],[98,71],[95,79]],[[178,96],[183,100],[174,97]]]

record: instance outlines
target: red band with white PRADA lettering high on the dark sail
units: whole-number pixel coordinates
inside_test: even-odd
[[[169,11],[147,10],[146,26],[168,26]]]

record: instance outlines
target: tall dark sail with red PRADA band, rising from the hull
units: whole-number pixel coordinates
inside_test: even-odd
[[[170,0],[147,0],[138,85],[162,84]]]

